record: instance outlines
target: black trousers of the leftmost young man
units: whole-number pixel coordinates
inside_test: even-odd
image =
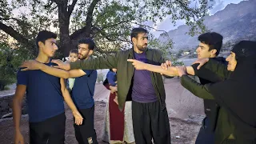
[[[30,122],[30,144],[64,144],[65,126],[65,113],[43,122]]]

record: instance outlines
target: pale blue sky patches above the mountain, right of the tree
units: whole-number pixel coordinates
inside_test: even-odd
[[[213,15],[216,12],[218,12],[219,10],[223,10],[228,4],[230,3],[234,3],[234,4],[238,4],[239,2],[242,2],[243,0],[209,0],[210,4],[212,5],[212,9],[209,10],[209,14]],[[193,5],[194,3],[192,3],[191,5]],[[152,22],[147,22],[146,23],[149,26],[153,26]],[[184,25],[185,21],[180,20],[176,22],[176,26],[174,26],[173,23],[171,23],[170,21],[170,16],[167,16],[163,22],[158,22],[157,26],[154,26],[155,29],[157,30],[166,30],[167,32],[170,30],[174,30],[176,28],[178,28],[178,26]],[[160,31],[156,31],[156,30],[151,30],[150,32],[152,32],[154,34],[155,37],[158,38],[158,36],[160,34],[162,34],[162,32]]]

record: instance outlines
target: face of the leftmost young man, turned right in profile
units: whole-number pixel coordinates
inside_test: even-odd
[[[46,54],[48,57],[53,57],[55,51],[58,50],[56,40],[54,38],[46,39],[46,42],[38,42],[39,49],[41,49],[43,54]]]

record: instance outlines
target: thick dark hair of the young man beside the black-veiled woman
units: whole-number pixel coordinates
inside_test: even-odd
[[[218,56],[222,48],[222,40],[223,40],[222,34],[218,34],[215,32],[208,32],[205,34],[201,34],[198,37],[198,41],[209,46],[209,51],[214,49],[217,50],[216,56]]]

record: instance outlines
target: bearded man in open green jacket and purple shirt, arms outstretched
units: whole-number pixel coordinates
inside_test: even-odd
[[[170,143],[170,124],[166,110],[166,93],[162,75],[148,70],[135,70],[127,59],[160,66],[166,62],[158,50],[147,48],[148,31],[143,28],[134,28],[131,32],[133,48],[118,51],[117,54],[106,57],[93,58],[77,62],[57,63],[57,68],[63,70],[97,70],[118,69],[118,107],[123,110],[125,102],[132,100],[132,117],[135,142],[139,144]],[[24,66],[24,65],[23,65]],[[26,67],[33,69],[33,65],[26,62]]]

